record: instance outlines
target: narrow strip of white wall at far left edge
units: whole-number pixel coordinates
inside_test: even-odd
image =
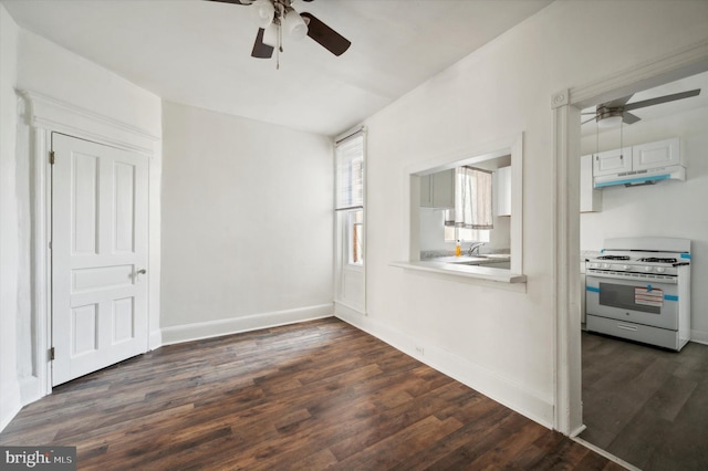
[[[0,3],[0,430],[20,409],[17,375],[19,223],[15,192],[18,25]]]

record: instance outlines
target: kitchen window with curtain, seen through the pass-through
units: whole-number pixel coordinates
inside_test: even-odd
[[[489,231],[494,228],[491,200],[491,171],[456,168],[455,209],[445,211],[445,240],[489,242]]]

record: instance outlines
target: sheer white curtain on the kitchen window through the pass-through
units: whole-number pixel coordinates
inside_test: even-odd
[[[455,209],[445,211],[445,224],[465,229],[493,229],[491,171],[455,169]]]

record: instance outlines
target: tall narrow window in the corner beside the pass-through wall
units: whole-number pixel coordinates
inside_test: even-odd
[[[335,210],[345,224],[344,253],[347,264],[364,263],[364,134],[363,132],[336,143]]]

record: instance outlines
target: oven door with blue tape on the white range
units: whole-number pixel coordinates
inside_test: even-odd
[[[671,281],[585,275],[587,314],[678,331],[678,285]]]

